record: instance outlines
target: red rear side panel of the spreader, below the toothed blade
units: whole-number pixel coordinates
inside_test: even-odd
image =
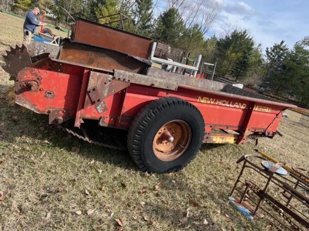
[[[51,124],[68,120],[77,110],[82,77],[81,67],[43,59],[19,71],[16,103],[49,114]]]

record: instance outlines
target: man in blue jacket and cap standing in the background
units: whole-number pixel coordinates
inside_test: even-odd
[[[36,30],[36,26],[45,25],[36,20],[36,15],[40,14],[40,9],[35,7],[29,10],[26,15],[26,20],[23,23],[23,44],[27,47],[31,42],[32,34]]]

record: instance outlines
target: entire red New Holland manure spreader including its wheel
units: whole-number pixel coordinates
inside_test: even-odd
[[[202,143],[272,138],[283,111],[295,107],[152,67],[152,43],[79,18],[60,47],[11,47],[3,69],[15,80],[15,102],[48,115],[49,124],[73,120],[83,130],[95,120],[97,126],[128,130],[127,149],[147,172],[179,171]],[[89,141],[83,134],[77,136]]]

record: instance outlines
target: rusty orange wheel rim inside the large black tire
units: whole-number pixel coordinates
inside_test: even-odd
[[[180,157],[191,141],[191,128],[183,120],[172,120],[164,124],[155,134],[152,149],[155,156],[163,161]]]

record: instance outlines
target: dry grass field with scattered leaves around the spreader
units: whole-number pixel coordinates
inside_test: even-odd
[[[4,54],[21,43],[23,20],[0,13],[0,21]],[[1,96],[13,85],[8,79],[0,68]],[[298,124],[300,115],[286,113],[284,136],[261,139],[258,148],[308,169],[309,129]],[[265,218],[249,221],[227,201],[240,171],[235,161],[254,148],[204,144],[181,172],[146,174],[127,152],[70,137],[49,126],[47,116],[2,98],[0,230],[272,230]]]

